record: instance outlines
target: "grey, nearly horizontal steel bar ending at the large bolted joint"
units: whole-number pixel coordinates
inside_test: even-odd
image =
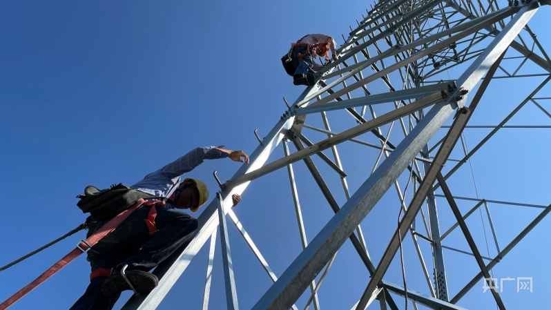
[[[336,101],[329,104],[312,104],[311,106],[306,106],[305,108],[295,108],[293,109],[292,113],[293,115],[305,115],[332,110],[342,110],[345,108],[356,108],[358,106],[368,106],[371,104],[384,104],[387,102],[400,101],[405,99],[417,99],[439,92],[441,90],[447,91],[448,85],[453,86],[454,84],[432,84],[429,86],[408,88],[406,90],[391,91],[384,94],[369,95],[366,97]]]

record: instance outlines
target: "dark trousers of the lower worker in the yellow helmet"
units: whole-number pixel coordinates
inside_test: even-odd
[[[140,206],[115,231],[109,233],[88,251],[92,271],[98,268],[115,269],[128,264],[128,269],[149,271],[174,253],[197,229],[197,220],[187,213],[174,209],[157,208],[157,233],[150,235],[145,219],[150,211]],[[97,222],[88,231],[88,236],[106,222]],[[101,285],[106,277],[90,280],[90,284],[71,310],[113,309],[117,296],[105,296]]]

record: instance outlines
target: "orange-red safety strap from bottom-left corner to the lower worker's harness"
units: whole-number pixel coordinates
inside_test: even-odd
[[[26,287],[23,287],[23,289],[19,290],[17,293],[14,293],[12,297],[8,298],[4,302],[0,304],[0,310],[8,309],[12,304],[17,302],[17,300],[20,300],[23,298],[23,296],[26,296],[30,291],[38,287],[42,282],[48,280],[52,275],[57,273],[57,271],[61,270],[61,268],[65,267],[68,263],[72,262],[82,253],[85,253],[90,249],[94,244],[97,244],[101,238],[104,238],[108,233],[111,231],[114,231],[119,224],[121,224],[122,221],[128,217],[128,215],[131,215],[138,206],[141,206],[144,203],[143,199],[138,200],[133,206],[131,206],[129,209],[126,209],[125,211],[122,211],[113,218],[113,220],[110,220],[107,224],[102,226],[98,231],[96,231],[93,235],[90,236],[90,238],[81,241],[79,244],[77,244],[77,248],[70,251],[67,255],[64,256],[64,258],[61,258],[58,262],[56,262],[50,269],[44,271],[41,275],[39,275],[38,278],[27,284]]]

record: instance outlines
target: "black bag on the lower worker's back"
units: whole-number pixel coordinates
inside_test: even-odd
[[[122,183],[101,190],[95,186],[86,186],[84,195],[77,195],[80,199],[77,206],[83,213],[90,213],[93,220],[109,220],[130,208],[138,200],[151,197],[157,196],[136,191]],[[162,197],[157,198],[166,200]]]

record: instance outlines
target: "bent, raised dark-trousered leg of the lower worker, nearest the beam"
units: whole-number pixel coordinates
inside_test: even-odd
[[[187,213],[174,209],[157,208],[157,233],[124,263],[128,269],[148,271],[168,258],[197,229],[197,220]],[[119,264],[119,267],[122,265]]]

